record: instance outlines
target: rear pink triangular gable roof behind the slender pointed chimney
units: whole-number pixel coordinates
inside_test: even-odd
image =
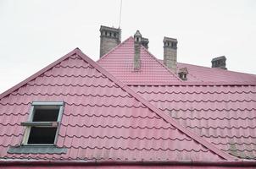
[[[141,47],[141,69],[134,71],[134,39],[123,41],[112,51],[101,57],[97,63],[126,85],[159,85],[181,83],[169,68],[159,63],[156,57]]]

